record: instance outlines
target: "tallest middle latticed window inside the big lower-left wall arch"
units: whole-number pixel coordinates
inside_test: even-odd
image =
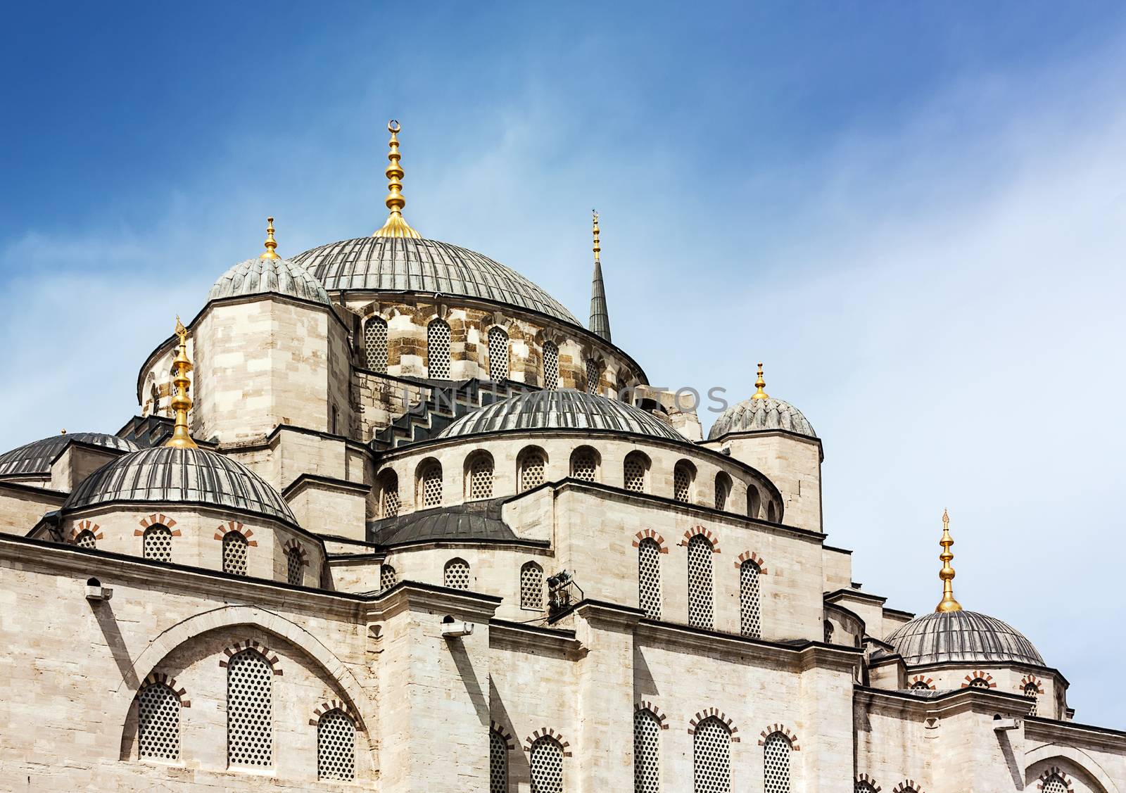
[[[274,670],[257,650],[243,650],[226,666],[226,752],[232,766],[274,761]]]

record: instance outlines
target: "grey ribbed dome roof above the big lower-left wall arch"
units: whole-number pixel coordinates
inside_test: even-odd
[[[198,504],[297,523],[266,480],[242,463],[202,448],[158,446],[123,455],[87,476],[63,511],[116,501]]]

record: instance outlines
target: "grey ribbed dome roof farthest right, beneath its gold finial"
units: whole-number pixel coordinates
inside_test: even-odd
[[[885,639],[908,666],[1015,662],[1043,667],[1022,633],[977,612],[935,612],[901,625]]]

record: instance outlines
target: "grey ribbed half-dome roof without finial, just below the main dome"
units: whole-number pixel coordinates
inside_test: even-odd
[[[641,408],[581,391],[537,391],[502,399],[463,416],[437,437],[518,429],[592,429],[688,443],[680,433]]]

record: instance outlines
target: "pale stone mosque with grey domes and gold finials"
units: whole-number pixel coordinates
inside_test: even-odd
[[[117,434],[0,455],[0,790],[1126,793],[945,515],[935,611],[854,582],[761,365],[705,437],[597,215],[584,327],[408,224],[388,130],[378,231],[271,219]]]

